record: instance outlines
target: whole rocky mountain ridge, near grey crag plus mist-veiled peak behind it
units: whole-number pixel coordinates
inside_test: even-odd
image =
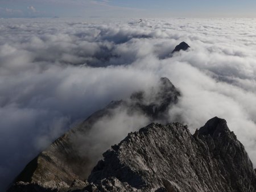
[[[160,78],[149,92],[110,102],[29,162],[8,191],[256,191],[253,164],[224,119],[208,120],[193,135],[188,126],[168,123],[180,97],[168,78]],[[119,144],[95,141],[98,122],[114,119],[111,125],[122,128],[115,119],[122,110],[143,116],[148,126],[114,137],[116,143],[125,137]]]

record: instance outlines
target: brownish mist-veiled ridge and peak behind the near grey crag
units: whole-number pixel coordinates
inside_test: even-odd
[[[161,78],[158,86],[152,87],[150,95],[145,91],[138,91],[126,101],[111,102],[104,109],[92,114],[79,126],[65,133],[35,157],[15,179],[15,182],[23,182],[16,183],[16,186],[19,186],[20,189],[25,184],[28,187],[28,183],[32,183],[32,187],[64,189],[63,186],[66,186],[68,189],[74,180],[84,181],[101,158],[101,154],[110,147],[101,140],[97,143],[106,145],[102,147],[102,151],[96,153],[94,148],[90,147],[92,143],[88,141],[88,134],[97,122],[102,119],[113,119],[120,108],[125,109],[129,116],[139,114],[146,116],[148,122],[164,119],[168,109],[177,103],[179,96],[179,91],[170,80]],[[113,126],[118,127],[118,122],[115,122]],[[121,136],[118,141],[125,135]],[[52,183],[55,183],[56,187]]]

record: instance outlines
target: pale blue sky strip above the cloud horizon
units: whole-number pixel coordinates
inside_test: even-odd
[[[0,18],[254,18],[254,0],[0,0]]]

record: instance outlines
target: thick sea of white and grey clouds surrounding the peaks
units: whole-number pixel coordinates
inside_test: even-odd
[[[168,77],[182,94],[170,108],[170,122],[180,119],[193,133],[214,116],[226,119],[256,166],[255,23],[0,19],[0,188],[92,112],[149,90],[160,77]],[[171,56],[181,41],[191,48]],[[147,123],[123,114],[118,119],[135,130]],[[113,124],[111,134],[108,129],[102,134],[125,137],[127,131],[120,133]],[[98,127],[94,133],[100,137]]]

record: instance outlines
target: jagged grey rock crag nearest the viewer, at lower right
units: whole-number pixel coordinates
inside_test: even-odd
[[[253,165],[226,121],[152,123],[104,153],[88,181],[111,177],[142,191],[256,191]]]

